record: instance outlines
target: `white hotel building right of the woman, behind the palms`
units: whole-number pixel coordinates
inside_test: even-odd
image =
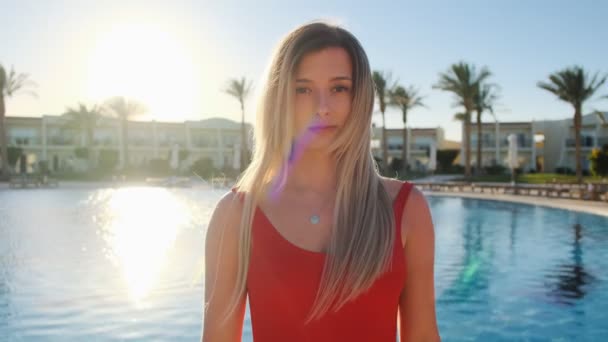
[[[401,158],[403,129],[387,129],[387,145],[390,158]],[[464,136],[464,127],[462,128]],[[425,170],[428,165],[429,147],[438,150],[453,149],[444,139],[443,129],[408,128],[408,163],[412,170]],[[524,172],[555,172],[556,168],[575,170],[575,140],[572,118],[531,122],[484,122],[481,125],[482,166],[507,166],[507,137],[515,134],[518,145],[519,165]],[[382,158],[380,141],[382,128],[374,128],[373,153]],[[608,144],[608,112],[584,115],[581,126],[581,160],[583,170],[589,170],[588,156],[594,148]],[[471,125],[471,165],[477,165],[477,125]],[[464,165],[466,151],[463,144],[457,162]]]

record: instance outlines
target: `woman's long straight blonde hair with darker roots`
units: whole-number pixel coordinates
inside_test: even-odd
[[[294,72],[304,55],[328,47],[343,48],[350,55],[354,93],[352,112],[330,146],[337,160],[336,206],[321,283],[308,321],[337,311],[390,268],[394,219],[370,149],[374,86],[369,62],[350,32],[313,22],[296,28],[279,44],[258,100],[253,158],[236,185],[245,196],[237,286],[227,313],[236,308],[246,288],[257,204],[273,186],[282,187],[287,177],[294,137]]]

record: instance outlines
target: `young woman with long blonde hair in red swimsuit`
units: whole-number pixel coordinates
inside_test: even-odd
[[[374,86],[348,31],[312,23],[280,43],[253,160],[205,244],[203,341],[438,341],[424,196],[378,174]]]

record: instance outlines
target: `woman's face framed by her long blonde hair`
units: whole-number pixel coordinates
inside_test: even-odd
[[[343,48],[305,55],[295,72],[295,132],[303,148],[323,149],[351,111],[353,70]]]

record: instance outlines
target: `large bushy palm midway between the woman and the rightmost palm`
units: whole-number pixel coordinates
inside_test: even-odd
[[[475,94],[478,85],[490,77],[490,71],[483,67],[479,73],[472,64],[459,62],[452,64],[448,71],[439,74],[439,81],[433,88],[449,91],[454,94],[456,105],[464,108],[464,146],[466,178],[471,177],[471,113],[475,110]]]

